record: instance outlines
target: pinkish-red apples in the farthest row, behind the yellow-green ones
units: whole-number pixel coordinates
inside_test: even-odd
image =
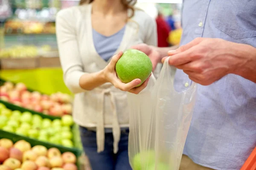
[[[72,98],[61,92],[50,96],[40,94],[38,91],[27,91],[26,85],[12,82],[5,82],[0,86],[0,99],[12,104],[42,112],[52,116],[63,116],[72,113]]]

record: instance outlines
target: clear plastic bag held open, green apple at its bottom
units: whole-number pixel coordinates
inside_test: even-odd
[[[168,58],[169,59],[169,58]],[[166,59],[140,94],[128,94],[129,161],[133,170],[178,170],[195,104],[196,83],[175,91],[176,68]]]

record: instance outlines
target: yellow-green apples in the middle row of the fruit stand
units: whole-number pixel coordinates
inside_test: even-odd
[[[0,103],[0,129],[28,136],[43,142],[73,147],[73,125],[71,115],[64,115],[61,119],[43,119],[41,116],[30,112],[11,111]]]

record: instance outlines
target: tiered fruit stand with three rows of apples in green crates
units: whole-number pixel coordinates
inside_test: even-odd
[[[79,163],[82,149],[78,126],[70,115],[72,105],[67,107],[67,103],[72,103],[71,101],[72,97],[67,94],[59,92],[49,96],[27,89],[23,83],[14,84],[1,79],[0,152],[5,154],[0,156],[0,170],[6,166],[21,167],[22,170],[28,170],[26,166],[41,167],[41,170],[54,170],[55,167],[62,167],[63,170],[82,170]],[[6,145],[9,147],[4,148]],[[50,154],[51,150],[58,150],[56,152],[60,154],[56,158],[41,156],[36,153],[37,149],[33,148],[44,148],[47,154]],[[19,155],[17,152],[22,155],[20,160],[12,157]],[[65,153],[75,156],[76,161],[65,161],[64,157],[70,157],[65,156]],[[33,159],[30,159],[30,156]],[[45,162],[48,162],[47,165]],[[48,169],[43,169],[44,166]]]

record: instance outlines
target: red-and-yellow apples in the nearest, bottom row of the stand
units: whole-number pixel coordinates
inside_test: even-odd
[[[71,152],[61,154],[55,147],[47,150],[42,145],[31,147],[20,140],[0,139],[0,170],[77,170],[76,156]]]

